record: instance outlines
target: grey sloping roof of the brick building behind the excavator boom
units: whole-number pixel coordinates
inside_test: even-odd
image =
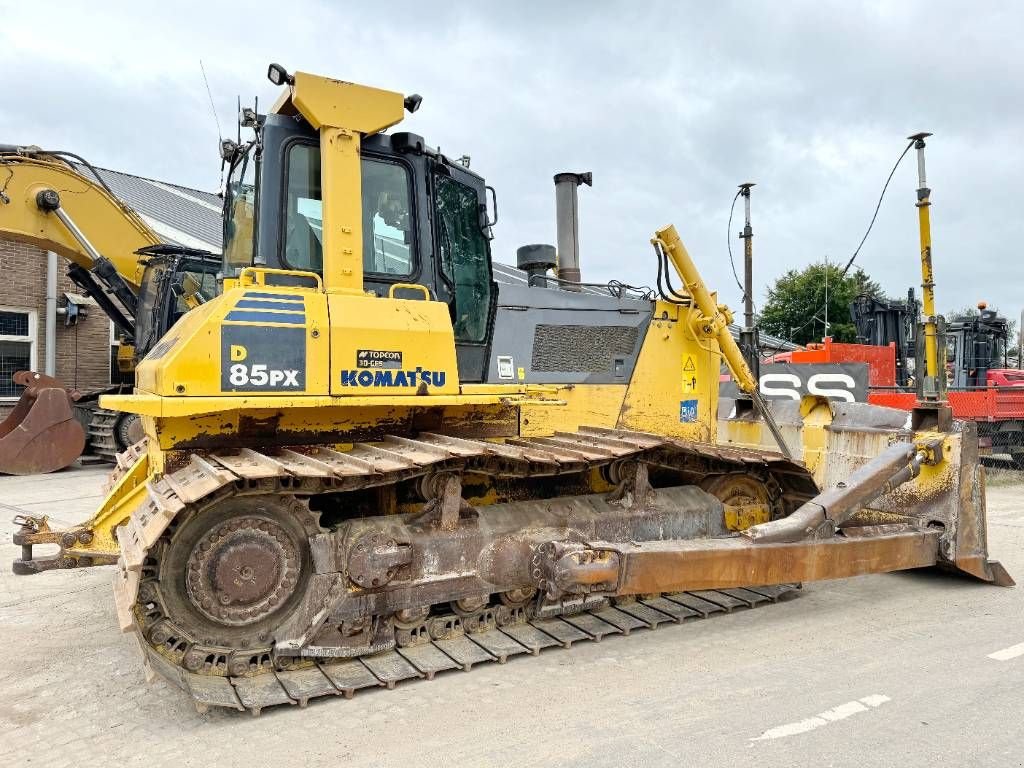
[[[76,170],[92,177],[92,172],[84,166],[76,165]],[[217,195],[109,168],[95,171],[121,202],[133,208],[165,243],[220,253],[221,200]]]

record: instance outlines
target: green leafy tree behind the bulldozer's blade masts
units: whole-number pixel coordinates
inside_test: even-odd
[[[825,275],[828,276],[828,333],[825,333]],[[843,276],[836,264],[819,261],[803,269],[791,269],[768,289],[768,301],[761,311],[761,328],[769,334],[792,339],[797,344],[821,341],[855,342],[857,329],[850,316],[850,304],[858,294],[885,298],[882,286],[860,267]]]

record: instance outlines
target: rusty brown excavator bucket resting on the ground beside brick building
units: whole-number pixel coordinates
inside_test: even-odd
[[[85,447],[85,430],[75,419],[78,392],[34,371],[18,371],[13,380],[25,391],[0,422],[0,474],[32,475],[69,466]]]

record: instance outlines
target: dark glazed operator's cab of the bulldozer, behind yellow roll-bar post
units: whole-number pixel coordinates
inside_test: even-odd
[[[225,196],[226,278],[249,266],[301,284],[325,273],[319,134],[301,118],[259,116],[231,163]],[[483,381],[497,305],[483,179],[402,132],[364,137],[359,153],[362,289],[447,304],[459,376]]]

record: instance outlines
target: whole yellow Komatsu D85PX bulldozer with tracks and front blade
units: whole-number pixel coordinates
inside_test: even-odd
[[[87,522],[25,520],[14,564],[116,562],[122,630],[200,709],[390,687],[803,582],[1012,584],[972,425],[773,414],[675,227],[652,239],[656,295],[581,283],[583,175],[558,178],[558,276],[529,247],[528,283],[499,287],[484,180],[385,132],[420,96],[268,75],[281,98],[228,151],[222,292],[104,400],[140,415],[144,452]],[[723,360],[745,396],[720,414]]]

